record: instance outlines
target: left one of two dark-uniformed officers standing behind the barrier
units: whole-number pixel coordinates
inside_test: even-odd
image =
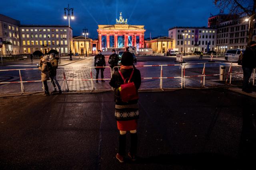
[[[101,51],[98,50],[98,55],[96,55],[94,57],[94,66],[106,66],[106,62],[105,62],[105,56],[101,54]],[[104,69],[105,68],[95,68],[96,69],[96,79],[99,78],[99,72],[101,75],[101,79],[104,78]],[[102,82],[105,82],[105,80],[101,80]],[[96,80],[96,83],[98,82],[98,80]]]

